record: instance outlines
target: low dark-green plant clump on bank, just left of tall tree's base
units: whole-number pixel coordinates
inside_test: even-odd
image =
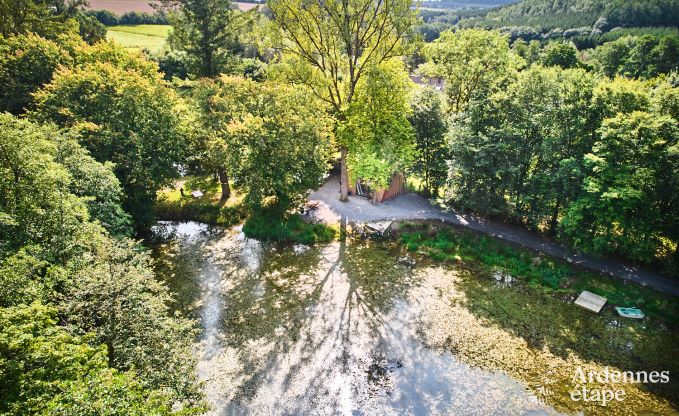
[[[336,230],[325,224],[308,223],[298,214],[281,218],[277,212],[259,211],[243,224],[243,232],[262,241],[292,241],[302,244],[327,243]]]

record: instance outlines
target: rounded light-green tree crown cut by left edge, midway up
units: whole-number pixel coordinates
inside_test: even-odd
[[[80,241],[92,232],[86,201],[69,192],[72,177],[55,160],[57,135],[53,128],[0,114],[4,253],[41,244],[47,259],[64,261],[79,252]]]

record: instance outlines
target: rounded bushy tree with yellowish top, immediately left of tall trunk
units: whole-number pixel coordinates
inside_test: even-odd
[[[299,86],[222,77],[210,90],[212,148],[235,178],[245,205],[284,215],[320,184],[330,150],[324,109]],[[213,155],[214,157],[214,155]]]

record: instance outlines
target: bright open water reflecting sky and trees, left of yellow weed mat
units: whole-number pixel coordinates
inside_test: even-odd
[[[425,347],[427,297],[412,289],[426,276],[386,244],[262,245],[195,223],[156,236],[159,273],[201,321],[212,414],[553,413],[508,376]]]

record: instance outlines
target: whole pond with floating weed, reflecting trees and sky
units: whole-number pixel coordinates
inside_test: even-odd
[[[600,413],[615,407],[570,399],[574,368],[620,368],[599,352],[611,348],[653,369],[676,352],[662,328],[595,321],[511,278],[430,263],[394,242],[263,244],[193,222],[161,222],[153,234],[174,308],[202,329],[198,370],[213,415]],[[532,326],[542,322],[533,307],[557,334]],[[587,353],[585,330],[606,345]],[[665,358],[640,339],[665,345]],[[619,410],[670,414],[675,385],[626,385]]]

